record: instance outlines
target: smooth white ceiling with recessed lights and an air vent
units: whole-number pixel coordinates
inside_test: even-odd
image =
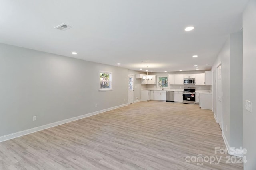
[[[0,43],[132,70],[206,70],[247,1],[0,0]],[[54,29],[62,23],[72,28]]]

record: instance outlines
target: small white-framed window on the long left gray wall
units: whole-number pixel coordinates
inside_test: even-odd
[[[100,90],[112,90],[112,72],[100,71]]]

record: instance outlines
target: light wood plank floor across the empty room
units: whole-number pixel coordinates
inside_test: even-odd
[[[242,170],[226,164],[213,113],[198,105],[138,102],[0,143],[0,170]],[[218,165],[186,156],[222,156]]]

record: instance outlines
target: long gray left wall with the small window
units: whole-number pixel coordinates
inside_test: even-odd
[[[99,70],[113,72],[112,91],[99,92]],[[0,136],[127,104],[128,72],[0,44]]]

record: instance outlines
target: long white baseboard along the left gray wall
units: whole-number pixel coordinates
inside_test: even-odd
[[[64,123],[68,123],[68,122],[71,122],[71,121],[76,121],[76,120],[79,120],[79,119],[83,119],[85,117],[90,117],[90,116],[93,116],[93,115],[97,115],[97,114],[100,114],[100,113],[103,113],[103,112],[106,112],[106,111],[110,111],[110,110],[113,110],[113,109],[117,109],[119,107],[124,107],[124,106],[128,106],[128,104],[122,104],[122,105],[119,105],[119,106],[110,107],[108,109],[103,109],[103,110],[100,110],[100,111],[87,113],[85,115],[80,115],[80,116],[77,116],[77,117],[72,117],[72,118],[69,118],[69,119],[56,121],[54,123],[49,123],[47,125],[42,125],[42,126],[34,127],[34,128],[31,128],[31,129],[26,129],[24,131],[19,131],[19,132],[11,133],[11,134],[8,134],[8,135],[4,135],[4,136],[0,137],[0,142],[7,141],[9,139],[14,139],[16,137],[20,137],[20,136],[23,136],[23,135],[28,135],[30,133],[34,133],[34,132],[37,132],[37,131],[48,129],[50,127],[62,125]]]

